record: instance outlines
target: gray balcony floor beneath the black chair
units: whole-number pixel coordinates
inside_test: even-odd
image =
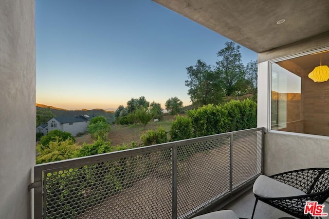
[[[252,209],[255,203],[255,197],[252,193],[252,189],[241,195],[237,200],[233,203],[227,205],[225,209],[233,210],[237,216],[243,218],[251,218]],[[325,207],[323,212],[329,213],[329,203],[324,203]],[[254,219],[278,219],[281,217],[293,217],[283,211],[280,211],[272,206],[269,206],[261,201],[258,202]],[[329,217],[322,217],[322,218],[329,218]]]

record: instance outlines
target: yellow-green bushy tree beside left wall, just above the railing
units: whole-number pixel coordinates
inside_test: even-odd
[[[39,144],[36,146],[36,150],[38,151],[36,164],[42,164],[75,158],[78,156],[79,146],[70,138],[62,141],[56,137],[55,141],[49,142],[48,147]]]

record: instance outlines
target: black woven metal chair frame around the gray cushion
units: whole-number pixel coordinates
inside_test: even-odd
[[[304,206],[306,201],[317,201],[318,204],[323,204],[329,197],[329,168],[293,170],[271,175],[269,177],[300,189],[305,192],[306,195],[292,197],[260,197],[254,194],[256,201],[253,207],[251,219],[254,216],[258,200],[292,216],[307,219],[314,217],[310,214],[304,214]]]

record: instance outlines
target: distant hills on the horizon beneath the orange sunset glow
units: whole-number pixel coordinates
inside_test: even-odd
[[[47,106],[44,104],[35,104],[36,110],[43,109],[43,108],[50,108],[50,111],[55,116],[76,116],[76,115],[102,115],[105,117],[106,122],[109,124],[112,124],[112,122],[115,120],[114,118],[114,111],[107,111],[103,109],[82,109],[82,110],[67,110],[67,109],[61,109],[57,107]]]

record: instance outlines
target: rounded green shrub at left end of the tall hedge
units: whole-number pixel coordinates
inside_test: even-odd
[[[193,137],[190,117],[178,115],[170,125],[170,141],[178,141]]]

